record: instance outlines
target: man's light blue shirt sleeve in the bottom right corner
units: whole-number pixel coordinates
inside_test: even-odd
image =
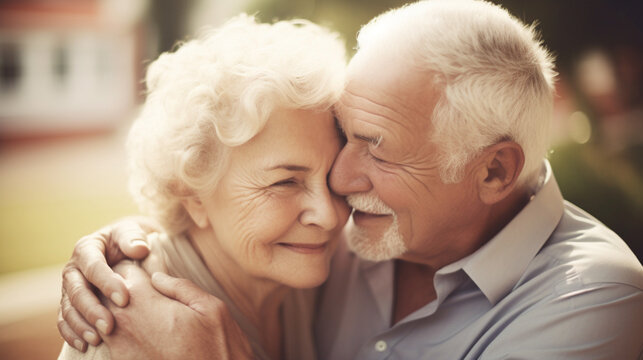
[[[643,291],[597,283],[535,305],[502,329],[480,359],[638,359]]]

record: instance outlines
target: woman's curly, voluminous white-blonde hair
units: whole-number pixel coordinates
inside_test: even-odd
[[[327,110],[339,98],[343,41],[305,20],[259,24],[240,15],[162,54],[127,148],[130,191],[169,233],[192,225],[182,200],[214,189],[230,147],[278,109]]]

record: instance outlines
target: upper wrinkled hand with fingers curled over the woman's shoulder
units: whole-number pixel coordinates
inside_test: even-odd
[[[149,253],[145,231],[156,228],[144,218],[123,220],[80,239],[71,259],[63,269],[62,298],[58,312],[58,331],[62,337],[80,351],[87,343],[98,345],[101,334],[109,334],[114,327],[111,312],[94,293],[125,306],[129,292],[123,279],[110,265],[124,258],[142,259]]]

